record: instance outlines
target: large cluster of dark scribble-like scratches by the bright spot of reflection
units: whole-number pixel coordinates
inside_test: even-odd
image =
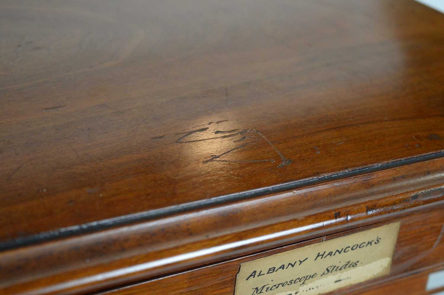
[[[215,121],[215,122],[208,122],[207,124],[202,124],[202,125],[194,126],[193,128],[200,127],[200,126],[208,126],[208,125],[211,125],[211,124],[219,124],[219,123],[227,122],[227,121],[228,120],[220,120],[220,121]],[[241,138],[233,140],[232,142],[242,142],[242,141],[246,140],[247,138],[253,138],[254,140],[256,140],[256,142],[258,142],[261,139],[263,139],[275,151],[275,153],[277,153],[277,155],[281,159],[281,161],[280,161],[279,165],[277,166],[277,168],[281,168],[281,167],[283,167],[285,165],[291,164],[291,160],[289,158],[284,157],[284,155],[276,148],[276,146],[274,146],[274,144],[272,142],[270,142],[270,140],[268,140],[268,138],[265,137],[264,134],[262,134],[259,130],[255,130],[255,129],[215,130],[213,132],[213,134],[214,135],[219,135],[219,136],[211,136],[211,137],[206,137],[206,138],[187,140],[187,138],[189,138],[191,135],[198,134],[200,132],[208,131],[209,128],[210,127],[202,127],[202,128],[198,128],[198,129],[195,129],[195,130],[185,131],[185,132],[176,132],[176,133],[172,133],[172,134],[164,134],[164,135],[152,137],[151,139],[155,140],[155,139],[161,139],[161,138],[164,138],[166,136],[171,136],[171,135],[182,135],[174,142],[175,143],[184,144],[184,143],[191,143],[191,142],[204,142],[204,141],[209,141],[209,140],[218,139],[218,138],[232,138],[232,137],[237,136],[237,135],[242,135]],[[251,133],[254,133],[254,134],[252,134],[252,135],[244,135],[244,134],[251,134]],[[221,157],[226,156],[226,155],[228,155],[228,154],[230,154],[230,153],[232,153],[234,151],[237,151],[237,150],[240,150],[240,149],[244,149],[247,146],[255,145],[256,142],[244,143],[244,144],[241,144],[240,146],[236,146],[234,148],[231,148],[231,149],[229,149],[229,150],[227,150],[227,151],[225,151],[223,153],[217,154],[217,155],[216,154],[212,154],[212,155],[210,155],[210,159],[207,159],[207,160],[203,161],[202,163],[209,163],[209,162],[226,162],[226,163],[263,163],[263,162],[271,162],[271,163],[274,163],[276,161],[275,159],[260,159],[260,160],[224,160],[224,159],[221,159]]]

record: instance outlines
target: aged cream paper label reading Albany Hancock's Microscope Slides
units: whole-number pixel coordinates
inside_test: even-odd
[[[315,295],[388,275],[399,222],[244,262],[235,295]]]

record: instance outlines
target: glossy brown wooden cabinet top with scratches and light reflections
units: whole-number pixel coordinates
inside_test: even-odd
[[[441,157],[443,28],[404,0],[2,1],[0,240]]]

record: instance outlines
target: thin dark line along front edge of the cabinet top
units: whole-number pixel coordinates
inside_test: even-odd
[[[396,168],[403,165],[409,165],[419,163],[422,161],[428,161],[436,158],[444,157],[444,150],[427,153],[420,156],[408,157],[400,160],[394,160],[385,162],[382,164],[369,165],[361,168],[349,169],[341,172],[330,173],[319,177],[312,177],[307,179],[301,179],[297,181],[290,181],[279,185],[271,185],[260,189],[251,189],[241,193],[232,193],[219,197],[213,197],[206,200],[194,201],[185,203],[182,205],[174,205],[166,208],[160,208],[145,212],[139,212],[99,221],[94,221],[85,224],[74,225],[66,228],[59,228],[48,232],[40,232],[35,235],[17,237],[11,240],[0,242],[0,251],[5,251],[12,248],[24,247],[32,244],[43,243],[60,238],[66,238],[70,236],[97,232],[100,230],[128,225],[136,222],[153,220],[161,217],[166,217],[174,214],[193,211],[196,209],[202,209],[212,207],[216,205],[223,205],[235,201],[241,201],[259,197],[271,193],[279,193],[287,190],[298,189],[308,185],[314,185],[321,182],[338,180],[341,178],[347,178],[356,176],[359,174],[372,173],[385,169]]]

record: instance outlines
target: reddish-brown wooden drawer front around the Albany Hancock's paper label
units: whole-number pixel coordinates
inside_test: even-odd
[[[430,269],[444,267],[443,229],[444,208],[421,212],[413,216],[390,220],[401,221],[400,232],[392,260],[390,275],[372,279],[363,283],[345,287],[327,294],[428,294],[425,283]],[[381,224],[377,224],[381,225]],[[376,225],[373,225],[373,227]],[[154,279],[146,283],[139,283],[131,287],[123,287],[102,294],[135,295],[135,294],[186,294],[186,295],[232,295],[234,283],[239,271],[240,263],[254,260],[317,243],[321,240],[333,239],[337,236],[350,234],[358,228],[341,234],[333,234],[299,243],[292,246],[274,249],[256,255],[230,260],[209,267],[202,267],[177,275],[170,275],[161,279]],[[420,276],[410,276],[421,272]],[[407,277],[407,279],[403,279]],[[398,282],[396,282],[398,281]],[[391,292],[389,292],[391,290]]]

